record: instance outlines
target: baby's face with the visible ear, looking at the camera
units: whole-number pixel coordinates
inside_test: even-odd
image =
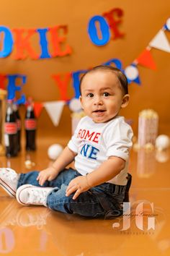
[[[95,123],[113,119],[120,108],[128,105],[128,99],[129,95],[123,95],[120,81],[112,72],[91,72],[81,83],[81,106]]]

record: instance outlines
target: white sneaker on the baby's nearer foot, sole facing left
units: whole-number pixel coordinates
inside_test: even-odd
[[[46,199],[53,187],[36,187],[30,184],[17,189],[16,198],[21,205],[46,205]]]

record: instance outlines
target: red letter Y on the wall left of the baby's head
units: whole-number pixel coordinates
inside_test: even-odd
[[[64,79],[61,80],[61,74],[52,74],[53,79],[55,80],[56,84],[58,85],[58,88],[61,93],[61,101],[68,101],[69,99],[67,98],[67,88],[68,88],[68,83],[71,80],[71,73],[66,73],[64,74]]]

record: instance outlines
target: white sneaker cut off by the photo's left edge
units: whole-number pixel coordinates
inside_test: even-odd
[[[0,168],[0,187],[11,197],[15,197],[19,174],[12,168]]]

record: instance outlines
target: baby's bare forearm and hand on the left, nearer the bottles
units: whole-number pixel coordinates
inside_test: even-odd
[[[55,179],[55,177],[73,161],[75,156],[76,153],[66,147],[52,166],[40,171],[40,174],[37,176],[39,184],[42,186],[46,180],[51,181]]]

